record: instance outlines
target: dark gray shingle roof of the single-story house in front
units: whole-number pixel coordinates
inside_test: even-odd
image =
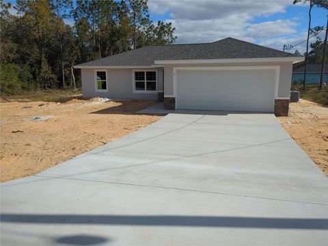
[[[156,60],[234,59],[297,57],[284,51],[252,44],[235,38],[203,44],[150,45],[118,55],[88,61],[78,66],[151,66]]]

